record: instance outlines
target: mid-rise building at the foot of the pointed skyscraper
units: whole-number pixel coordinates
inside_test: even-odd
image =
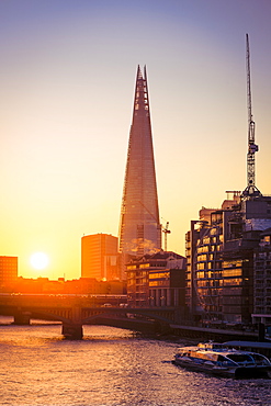
[[[171,251],[131,260],[127,303],[132,307],[185,305],[185,258]]]

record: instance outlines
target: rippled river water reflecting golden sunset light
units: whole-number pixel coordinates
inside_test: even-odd
[[[1,405],[271,405],[271,380],[213,377],[172,364],[189,342],[105,326],[84,326],[79,341],[60,331],[0,325]]]

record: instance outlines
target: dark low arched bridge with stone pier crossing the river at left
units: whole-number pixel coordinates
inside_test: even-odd
[[[61,322],[65,338],[81,339],[82,326],[102,317],[140,316],[155,320],[161,326],[177,323],[179,312],[176,307],[121,307],[98,305],[87,295],[46,295],[46,294],[0,294],[0,315],[13,316],[14,324],[26,325],[31,319]],[[128,320],[126,318],[126,320]],[[127,323],[128,324],[128,323]]]

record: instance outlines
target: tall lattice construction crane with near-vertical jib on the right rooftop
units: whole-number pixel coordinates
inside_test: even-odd
[[[251,86],[250,86],[250,52],[249,38],[246,34],[247,45],[247,104],[248,104],[248,153],[247,153],[247,188],[244,196],[255,196],[261,194],[255,185],[255,153],[259,150],[258,145],[255,144],[255,121],[252,116],[251,104]]]

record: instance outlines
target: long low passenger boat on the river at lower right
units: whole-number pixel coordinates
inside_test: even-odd
[[[173,362],[192,371],[226,377],[271,377],[267,357],[214,342],[179,348]]]

